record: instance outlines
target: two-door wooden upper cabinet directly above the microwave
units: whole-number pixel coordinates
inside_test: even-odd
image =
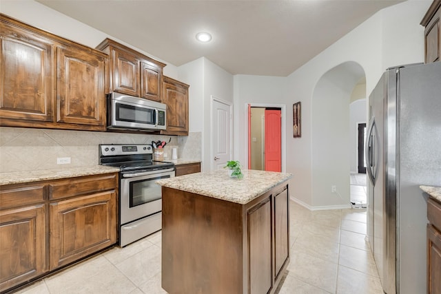
[[[165,63],[111,39],[105,39],[96,49],[110,56],[110,83],[107,92],[162,101],[161,85]]]

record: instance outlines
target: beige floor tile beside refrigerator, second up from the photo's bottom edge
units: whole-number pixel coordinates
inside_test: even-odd
[[[340,245],[338,264],[378,277],[377,266],[370,251]]]

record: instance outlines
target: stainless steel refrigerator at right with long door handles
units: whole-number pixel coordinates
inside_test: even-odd
[[[384,293],[427,293],[427,196],[441,185],[441,62],[389,68],[369,96],[367,233]]]

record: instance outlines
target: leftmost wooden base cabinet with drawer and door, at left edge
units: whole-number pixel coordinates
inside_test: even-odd
[[[45,273],[46,204],[43,185],[0,189],[0,291]]]

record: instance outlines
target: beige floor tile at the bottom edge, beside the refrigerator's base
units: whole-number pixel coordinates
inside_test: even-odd
[[[381,282],[378,277],[373,277],[360,271],[338,266],[338,294],[383,294]]]

